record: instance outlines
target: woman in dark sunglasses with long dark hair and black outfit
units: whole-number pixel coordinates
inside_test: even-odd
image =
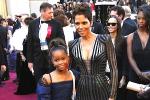
[[[126,100],[127,80],[127,44],[126,38],[121,35],[121,24],[117,17],[111,16],[107,22],[108,34],[111,36],[115,47],[117,68],[118,68],[118,91],[116,100]]]

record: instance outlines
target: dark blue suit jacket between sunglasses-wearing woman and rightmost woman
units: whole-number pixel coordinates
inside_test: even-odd
[[[123,36],[127,36],[136,30],[137,30],[137,25],[131,18],[127,18],[126,20],[124,20],[123,26],[121,29],[121,34]]]

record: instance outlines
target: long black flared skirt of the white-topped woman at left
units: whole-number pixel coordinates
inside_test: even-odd
[[[26,57],[26,40],[23,42],[23,54]],[[21,55],[18,53],[18,87],[15,94],[17,95],[23,95],[23,94],[29,94],[34,93],[36,89],[36,82],[35,78],[32,75],[31,71],[28,68],[28,62],[21,60]]]

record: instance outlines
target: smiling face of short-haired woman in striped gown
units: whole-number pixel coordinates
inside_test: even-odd
[[[86,36],[90,32],[91,22],[84,15],[76,15],[75,28],[81,37]]]

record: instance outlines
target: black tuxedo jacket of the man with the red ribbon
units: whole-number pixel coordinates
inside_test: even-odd
[[[48,24],[52,27],[52,32],[50,38],[47,39],[47,43],[54,38],[64,38],[64,33],[61,25],[54,19],[52,19]],[[27,60],[28,62],[33,62],[35,59],[40,58],[42,55],[40,39],[39,39],[39,29],[40,29],[40,18],[33,20],[29,24],[28,37],[27,37]]]

